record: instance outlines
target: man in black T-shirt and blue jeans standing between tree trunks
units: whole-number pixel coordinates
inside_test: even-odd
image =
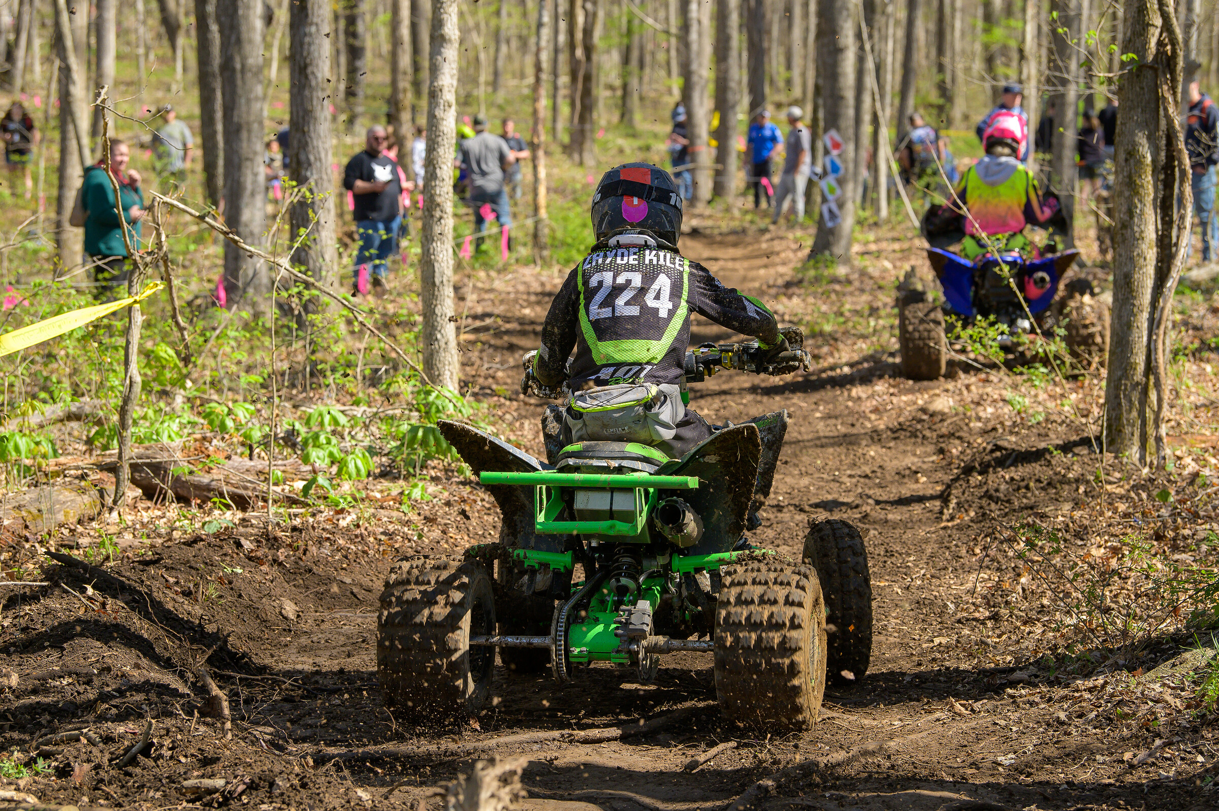
[[[347,161],[343,187],[351,191],[360,250],[356,252],[352,295],[378,298],[389,290],[386,260],[394,254],[401,226],[402,184],[397,163],[385,154],[389,137],[374,124],[364,133],[364,149]]]

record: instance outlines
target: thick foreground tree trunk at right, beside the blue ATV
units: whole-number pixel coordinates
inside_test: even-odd
[[[1173,290],[1185,263],[1192,194],[1179,118],[1182,43],[1169,0],[1125,4],[1118,85],[1113,320],[1104,387],[1107,450],[1164,460],[1165,346]],[[1152,402],[1154,396],[1156,402]]]

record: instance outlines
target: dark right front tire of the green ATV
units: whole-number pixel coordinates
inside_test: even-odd
[[[863,678],[872,660],[872,576],[859,531],[847,521],[818,521],[805,535],[805,563],[817,570],[825,599],[829,681]],[[850,676],[844,674],[850,673]]]

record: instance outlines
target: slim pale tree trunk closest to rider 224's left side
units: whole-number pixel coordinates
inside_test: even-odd
[[[428,156],[423,174],[423,371],[436,385],[457,390],[453,315],[453,149],[457,138],[458,0],[433,0],[428,87]]]

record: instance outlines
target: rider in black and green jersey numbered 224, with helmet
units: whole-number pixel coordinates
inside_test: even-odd
[[[568,274],[527,371],[567,389],[562,440],[640,443],[680,457],[711,435],[681,390],[690,313],[787,351],[774,315],[681,256],[681,198],[651,163],[610,170],[592,198],[596,244]],[[575,356],[568,362],[572,349]]]

